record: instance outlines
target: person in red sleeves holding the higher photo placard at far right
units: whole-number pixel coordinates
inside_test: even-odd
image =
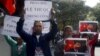
[[[88,38],[88,50],[89,50],[89,55],[88,56],[94,56],[94,51],[95,51],[95,44],[97,43],[98,40],[98,34],[94,34],[94,36],[90,37],[88,36],[88,34],[83,34],[82,35],[83,38]]]

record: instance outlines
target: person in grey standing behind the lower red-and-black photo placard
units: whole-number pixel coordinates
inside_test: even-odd
[[[72,37],[76,37],[73,33],[73,28],[72,26],[68,25],[65,26],[64,30],[63,30],[63,34],[62,35],[57,35],[56,36],[56,42],[55,42],[55,56],[64,56],[64,39],[66,38],[72,38]],[[66,55],[67,56],[67,55]],[[72,55],[70,55],[72,56]]]

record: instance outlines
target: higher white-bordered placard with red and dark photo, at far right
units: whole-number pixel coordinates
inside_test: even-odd
[[[98,32],[98,21],[80,21],[80,33],[96,33]]]

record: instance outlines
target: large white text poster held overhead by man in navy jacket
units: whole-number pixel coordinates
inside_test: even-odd
[[[50,19],[51,1],[25,1],[25,18],[32,20]]]

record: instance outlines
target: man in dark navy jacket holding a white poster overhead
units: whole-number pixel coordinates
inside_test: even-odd
[[[53,37],[57,33],[57,24],[55,21],[50,20],[52,29],[49,33],[42,33],[42,22],[35,21],[33,26],[33,34],[29,35],[23,30],[24,19],[20,19],[17,23],[17,32],[26,42],[27,56],[35,56],[36,51],[42,50],[44,56],[52,56],[49,46],[49,41],[54,39]]]

